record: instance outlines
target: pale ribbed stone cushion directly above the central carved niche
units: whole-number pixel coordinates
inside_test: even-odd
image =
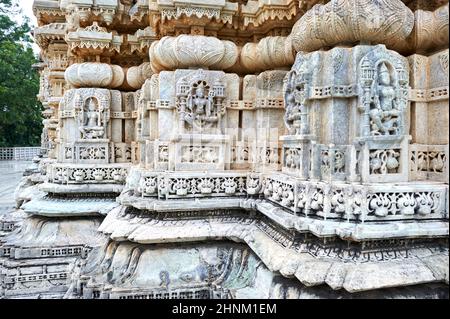
[[[237,62],[238,55],[233,42],[202,35],[164,37],[150,47],[154,72],[190,67],[229,69]]]

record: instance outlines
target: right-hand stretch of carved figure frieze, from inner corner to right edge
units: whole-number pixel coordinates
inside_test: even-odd
[[[336,187],[331,184],[296,187],[292,183],[268,180],[264,195],[295,213],[317,214],[324,218],[364,221],[368,217],[448,218],[440,191],[371,191],[364,187]]]

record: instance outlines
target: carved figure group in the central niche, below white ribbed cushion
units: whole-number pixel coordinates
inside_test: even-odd
[[[219,127],[225,109],[225,87],[216,81],[210,87],[205,80],[189,85],[182,79],[177,89],[178,109],[182,126],[188,124],[194,131],[202,132]]]

